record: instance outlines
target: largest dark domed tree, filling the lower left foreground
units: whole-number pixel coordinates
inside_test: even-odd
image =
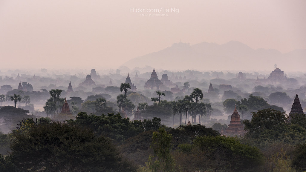
[[[136,171],[110,139],[84,127],[32,123],[13,136],[13,163],[21,171]]]

